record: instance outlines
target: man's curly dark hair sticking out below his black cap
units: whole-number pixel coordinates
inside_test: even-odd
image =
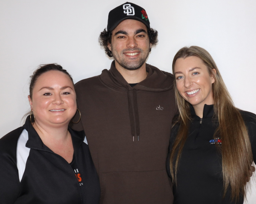
[[[147,33],[149,37],[149,42],[152,44],[152,46],[154,46],[158,42],[157,30],[154,30],[153,28],[148,28]],[[112,52],[108,48],[108,44],[111,44],[111,37],[112,37],[112,31],[106,31],[106,28],[99,35],[99,43],[101,46],[104,47],[104,50],[109,57],[113,57]],[[151,48],[150,48],[150,51],[151,51]]]

